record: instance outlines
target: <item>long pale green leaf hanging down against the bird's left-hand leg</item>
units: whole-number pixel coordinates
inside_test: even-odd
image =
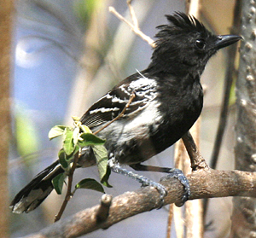
[[[91,147],[96,156],[97,167],[101,178],[101,183],[108,188],[112,186],[108,183],[110,169],[108,167],[108,151],[103,145],[94,145]]]

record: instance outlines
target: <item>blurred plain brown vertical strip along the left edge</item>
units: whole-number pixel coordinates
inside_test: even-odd
[[[8,154],[9,154],[9,65],[13,2],[0,3],[0,236],[9,236]]]

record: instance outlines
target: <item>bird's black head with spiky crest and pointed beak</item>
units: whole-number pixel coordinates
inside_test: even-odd
[[[149,67],[163,73],[199,73],[218,49],[236,43],[241,37],[214,35],[194,16],[166,15],[169,25],[161,25]]]

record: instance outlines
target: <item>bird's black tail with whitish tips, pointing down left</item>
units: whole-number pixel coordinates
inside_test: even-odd
[[[25,188],[21,189],[12,200],[10,208],[12,212],[31,212],[37,208],[54,189],[51,181],[63,172],[59,161],[49,165],[44,171],[38,173]]]

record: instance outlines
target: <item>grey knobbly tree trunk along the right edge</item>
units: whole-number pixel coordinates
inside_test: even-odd
[[[256,2],[242,1],[241,57],[236,83],[236,169],[256,169]],[[256,199],[234,198],[232,237],[255,237]]]

